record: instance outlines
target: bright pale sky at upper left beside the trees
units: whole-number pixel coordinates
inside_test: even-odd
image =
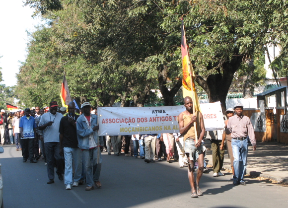
[[[34,9],[23,5],[23,0],[0,0],[0,67],[4,80],[1,84],[6,86],[17,84],[19,62],[26,59],[26,30],[35,31],[41,22],[39,17],[31,17]]]

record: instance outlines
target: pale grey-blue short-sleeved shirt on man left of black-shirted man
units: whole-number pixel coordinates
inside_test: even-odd
[[[41,116],[39,127],[53,121],[54,123],[52,126],[46,127],[46,129],[43,130],[43,137],[44,137],[44,143],[45,142],[59,142],[59,127],[60,127],[60,121],[63,118],[63,115],[61,113],[56,113],[55,115],[49,113],[44,113]]]

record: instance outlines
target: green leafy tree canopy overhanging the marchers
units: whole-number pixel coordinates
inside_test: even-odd
[[[110,106],[118,99],[122,106],[130,100],[143,106],[151,89],[159,89],[165,105],[173,105],[182,86],[181,18],[196,81],[223,109],[237,70],[247,72],[243,82],[253,90],[261,68],[257,60],[269,44],[283,46],[271,66],[287,74],[287,0],[27,0],[26,5],[47,19],[30,34],[17,75],[16,92],[27,105],[60,101],[63,71],[80,102]]]

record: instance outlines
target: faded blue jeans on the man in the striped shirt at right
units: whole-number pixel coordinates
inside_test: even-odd
[[[233,182],[244,182],[244,173],[247,166],[247,154],[248,154],[248,140],[232,139],[232,151],[234,157],[234,172]]]

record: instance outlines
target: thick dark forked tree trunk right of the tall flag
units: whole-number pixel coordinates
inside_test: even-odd
[[[226,96],[234,73],[240,67],[242,59],[243,56],[235,56],[230,62],[224,62],[222,64],[223,74],[220,69],[217,69],[218,73],[210,74],[206,80],[202,76],[195,78],[195,81],[207,92],[210,103],[221,102],[223,113],[226,111]],[[207,67],[207,69],[209,70],[211,67]]]

